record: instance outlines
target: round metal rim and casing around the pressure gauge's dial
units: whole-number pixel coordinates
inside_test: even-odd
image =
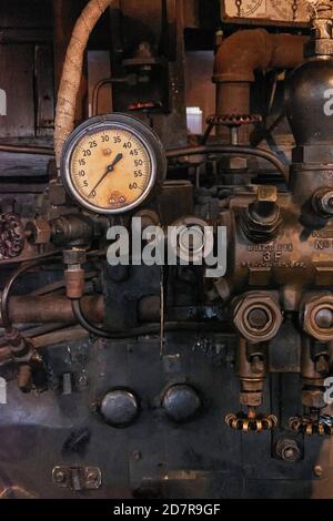
[[[78,191],[73,182],[71,171],[72,156],[80,142],[90,134],[105,131],[108,129],[117,129],[131,133],[144,147],[150,160],[150,178],[144,191],[138,198],[130,204],[119,208],[104,208],[88,202]],[[91,118],[80,124],[68,137],[61,155],[61,177],[70,197],[81,207],[103,215],[120,215],[130,213],[143,204],[151,195],[154,186],[163,181],[167,173],[167,159],[163,145],[159,136],[142,121],[137,118],[122,114],[104,114]]]

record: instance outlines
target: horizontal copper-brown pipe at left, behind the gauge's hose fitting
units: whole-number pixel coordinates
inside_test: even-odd
[[[82,308],[87,317],[95,324],[103,321],[104,304],[102,296],[85,296]],[[9,317],[14,324],[74,324],[71,302],[65,296],[42,297],[19,296],[9,300]],[[0,325],[2,320],[0,318]]]

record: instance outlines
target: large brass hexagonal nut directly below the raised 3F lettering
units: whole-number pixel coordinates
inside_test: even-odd
[[[261,343],[274,338],[283,317],[274,296],[264,292],[251,292],[238,302],[233,321],[246,340]]]

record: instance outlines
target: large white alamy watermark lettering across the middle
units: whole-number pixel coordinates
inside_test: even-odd
[[[205,276],[223,277],[226,272],[226,227],[180,224],[162,228],[142,227],[141,217],[133,217],[131,229],[111,226],[107,234],[111,266],[204,266]]]

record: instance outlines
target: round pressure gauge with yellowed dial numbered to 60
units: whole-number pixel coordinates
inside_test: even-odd
[[[62,151],[61,175],[69,195],[98,214],[137,208],[165,171],[159,137],[128,114],[87,120],[72,132]]]

